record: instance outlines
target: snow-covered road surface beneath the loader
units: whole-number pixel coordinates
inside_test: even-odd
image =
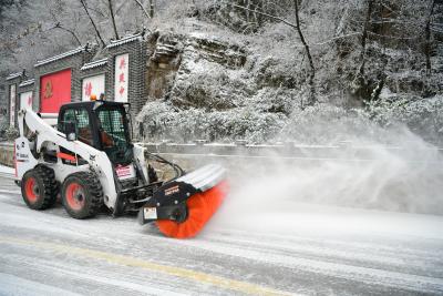
[[[442,295],[443,216],[229,203],[196,238],[29,210],[0,176],[0,295]],[[229,218],[229,216],[231,218]]]

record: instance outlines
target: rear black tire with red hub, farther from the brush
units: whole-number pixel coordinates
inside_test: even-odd
[[[59,193],[54,171],[44,165],[28,171],[22,177],[20,187],[24,203],[32,210],[47,210],[53,206]]]

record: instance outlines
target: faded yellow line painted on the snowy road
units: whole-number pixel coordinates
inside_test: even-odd
[[[177,276],[185,279],[190,279],[199,283],[210,284],[226,289],[237,290],[250,295],[292,295],[290,293],[268,288],[260,285],[250,284],[247,282],[240,282],[235,279],[229,279],[226,277],[215,276],[205,274],[202,272],[195,272],[192,269],[185,269],[181,267],[174,267],[168,265],[162,265],[157,263],[152,263],[144,259],[137,259],[128,256],[123,256],[119,254],[106,253],[102,251],[89,249],[73,247],[56,243],[43,243],[31,239],[21,239],[17,237],[0,236],[0,243],[3,244],[18,244],[39,247],[43,249],[53,249],[68,254],[75,254],[79,256],[93,258],[93,259],[104,259],[113,264],[125,265],[131,267],[140,267],[143,269],[148,269],[153,272],[159,272],[166,275]]]

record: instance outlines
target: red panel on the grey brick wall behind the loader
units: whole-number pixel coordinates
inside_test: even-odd
[[[71,69],[40,79],[40,112],[59,113],[60,106],[71,102]]]

